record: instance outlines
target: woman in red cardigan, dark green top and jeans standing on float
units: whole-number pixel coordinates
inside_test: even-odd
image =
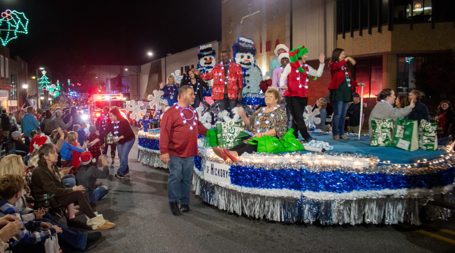
[[[332,76],[329,86],[329,99],[333,104],[332,132],[335,141],[339,141],[340,138],[349,140],[344,135],[344,120],[347,108],[349,102],[354,101],[352,93],[355,92],[355,88],[358,85],[365,86],[363,83],[351,80],[351,72],[345,66],[346,61],[355,65],[355,60],[352,57],[346,57],[344,50],[337,48],[332,52],[332,58],[329,63],[330,75]]]

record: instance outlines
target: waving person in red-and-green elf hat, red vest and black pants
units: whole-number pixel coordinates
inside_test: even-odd
[[[320,77],[324,69],[323,53],[319,56],[319,68],[315,70],[306,64],[308,59],[308,49],[305,46],[293,49],[289,53],[291,63],[286,65],[283,70],[283,75],[280,78],[280,86],[284,86],[287,81],[287,90],[284,93],[286,99],[286,110],[289,110],[292,115],[292,129],[294,136],[298,139],[298,132],[302,135],[306,142],[315,140],[306,130],[305,119],[303,112],[308,104],[308,77]],[[316,78],[314,78],[316,79]]]

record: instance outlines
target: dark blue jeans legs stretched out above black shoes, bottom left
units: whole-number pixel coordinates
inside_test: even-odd
[[[67,244],[78,249],[85,248],[85,245],[87,243],[87,233],[79,232],[78,230],[72,230],[70,228],[62,226],[48,212],[45,212],[42,219],[36,219],[35,221],[49,222],[52,225],[59,226],[63,230],[61,234],[57,234],[59,240],[64,240]]]

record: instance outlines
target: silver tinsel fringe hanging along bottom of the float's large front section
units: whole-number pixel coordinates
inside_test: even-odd
[[[447,219],[450,210],[434,206],[426,207],[428,198],[386,197],[359,198],[352,200],[320,200],[307,197],[270,197],[243,193],[203,180],[193,174],[195,194],[219,209],[254,218],[279,222],[332,224],[398,224],[420,225],[420,211],[426,208],[428,219]],[[453,190],[443,195],[453,202]],[[432,212],[429,212],[431,210]]]

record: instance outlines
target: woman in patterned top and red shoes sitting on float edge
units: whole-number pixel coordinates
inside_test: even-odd
[[[249,118],[243,110],[240,110],[240,117],[247,130],[255,133],[255,135],[231,149],[213,147],[213,152],[223,160],[229,157],[232,161],[237,161],[237,158],[243,153],[257,151],[257,145],[250,144],[250,140],[255,137],[261,138],[267,135],[277,137],[280,140],[283,139],[287,131],[286,122],[288,121],[288,117],[286,116],[286,111],[277,105],[280,97],[281,95],[278,89],[270,87],[265,92],[265,107],[258,109]],[[255,141],[253,140],[253,142]]]

